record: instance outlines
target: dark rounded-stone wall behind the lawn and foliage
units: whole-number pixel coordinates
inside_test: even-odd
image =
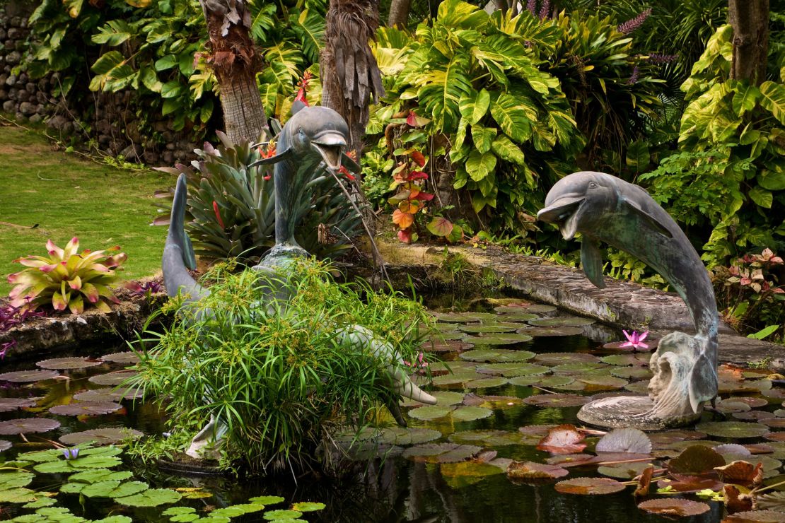
[[[94,147],[111,157],[122,155],[129,162],[173,165],[196,158],[196,144],[186,133],[175,132],[170,118],[160,117],[149,125],[156,140],[144,136],[136,115],[143,103],[130,89],[94,93],[89,97],[92,107],[78,107],[66,97],[53,96],[58,73],[34,80],[21,71],[30,46],[27,18],[37,3],[0,0],[0,107],[6,115],[20,123],[46,124],[47,133],[64,143]]]

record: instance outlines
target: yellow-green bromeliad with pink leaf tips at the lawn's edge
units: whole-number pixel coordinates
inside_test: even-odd
[[[9,274],[8,282],[16,286],[9,297],[13,307],[34,310],[51,303],[55,311],[66,307],[74,314],[84,311],[92,303],[99,311],[109,312],[107,300],[119,303],[111,287],[119,282],[115,271],[128,256],[119,252],[119,245],[100,251],[85,249],[78,252],[79,238],[60,249],[49,240],[49,256],[26,256],[14,260],[26,269]],[[87,303],[85,303],[85,298]]]

